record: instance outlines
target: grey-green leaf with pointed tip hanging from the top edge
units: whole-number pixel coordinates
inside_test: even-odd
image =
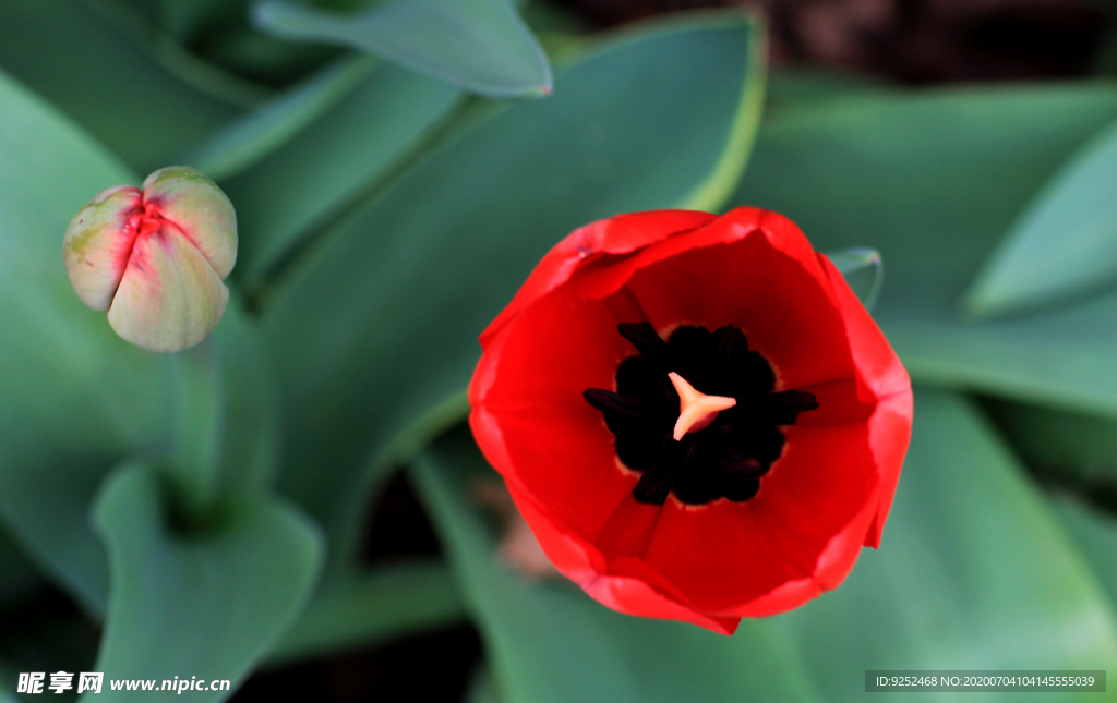
[[[369,51],[481,95],[551,92],[547,58],[509,0],[380,0],[350,13],[262,0],[251,12],[276,37]]]

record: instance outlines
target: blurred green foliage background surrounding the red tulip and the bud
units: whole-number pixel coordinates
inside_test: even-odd
[[[709,4],[0,3],[0,701],[29,671],[475,703],[1117,672],[1114,8]],[[213,337],[164,357],[59,247],[170,163],[241,243]],[[737,204],[881,253],[916,422],[879,552],[722,637],[504,565],[461,421],[477,335],[560,238]]]

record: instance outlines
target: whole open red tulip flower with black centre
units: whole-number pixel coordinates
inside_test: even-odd
[[[910,382],[782,215],[583,227],[481,346],[474,436],[555,567],[610,608],[729,634],[880,541]]]

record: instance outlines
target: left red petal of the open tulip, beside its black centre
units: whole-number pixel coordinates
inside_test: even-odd
[[[639,476],[622,470],[586,388],[613,388],[633,354],[600,301],[564,287],[489,341],[470,389],[470,423],[509,485],[547,507],[556,522],[592,540]]]

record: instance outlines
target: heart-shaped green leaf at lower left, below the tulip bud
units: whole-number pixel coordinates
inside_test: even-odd
[[[242,497],[200,533],[172,527],[159,474],[116,471],[94,522],[108,550],[113,590],[94,671],[111,678],[228,678],[233,688],[295,622],[318,575],[321,536],[271,498]],[[231,692],[191,692],[222,701]],[[105,690],[88,701],[130,701]]]

